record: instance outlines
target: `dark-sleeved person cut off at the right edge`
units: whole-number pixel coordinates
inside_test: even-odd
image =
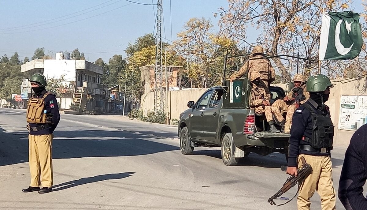
[[[366,210],[367,199],[363,185],[367,174],[367,124],[353,134],[339,180],[338,197],[346,210]]]

